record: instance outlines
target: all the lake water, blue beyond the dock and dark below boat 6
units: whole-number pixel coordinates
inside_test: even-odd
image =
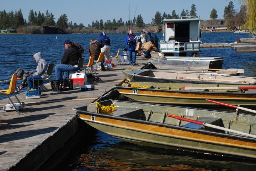
[[[111,39],[111,55],[126,48],[126,34],[107,34]],[[162,34],[157,34],[162,39]],[[56,38],[57,37],[57,38]],[[234,43],[237,38],[248,34],[202,33],[203,43]],[[60,62],[64,40],[79,42],[88,49],[90,39],[98,34],[68,35],[10,35],[0,34],[0,80],[10,79],[17,68],[34,71],[37,63],[32,55],[41,51],[47,62]],[[200,56],[224,57],[223,68],[244,68],[245,76],[256,76],[256,53],[236,53],[231,48],[201,48]],[[89,57],[85,52],[83,57]],[[54,75],[54,74],[53,74]],[[19,81],[17,86],[20,85]],[[6,89],[9,82],[0,82],[0,89]],[[155,149],[123,142],[97,131],[81,142],[84,149],[71,154],[64,170],[254,170],[254,162],[207,155],[195,155],[184,151]]]

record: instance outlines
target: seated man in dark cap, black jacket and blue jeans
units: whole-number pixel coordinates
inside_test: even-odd
[[[56,79],[66,79],[69,71],[78,71],[78,60],[81,57],[78,47],[70,40],[64,42],[65,52],[61,63],[55,66]]]

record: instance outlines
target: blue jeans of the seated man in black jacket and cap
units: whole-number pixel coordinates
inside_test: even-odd
[[[68,71],[78,71],[79,68],[74,67],[73,65],[58,64],[55,66],[55,75],[56,79],[66,79]]]

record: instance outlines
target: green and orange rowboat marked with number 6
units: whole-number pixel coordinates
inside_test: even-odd
[[[113,105],[116,111],[112,114],[98,113],[90,107],[94,104],[73,110],[88,125],[124,141],[188,153],[256,159],[255,115],[117,100],[99,103]]]

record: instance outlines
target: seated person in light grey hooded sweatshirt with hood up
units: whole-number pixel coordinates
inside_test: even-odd
[[[36,72],[27,77],[28,88],[36,88],[36,84],[33,85],[33,79],[45,79],[47,78],[46,70],[48,67],[47,62],[43,59],[41,52],[33,55],[33,60],[38,62]],[[34,87],[33,87],[34,86]]]

